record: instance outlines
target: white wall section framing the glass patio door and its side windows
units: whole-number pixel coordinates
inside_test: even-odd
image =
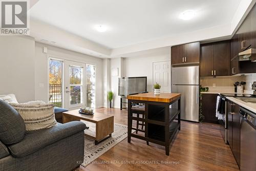
[[[48,48],[48,53],[42,53],[43,47]],[[35,99],[48,101],[48,55],[59,59],[69,59],[89,63],[96,66],[96,107],[103,106],[103,60],[101,58],[84,55],[81,53],[35,43]]]

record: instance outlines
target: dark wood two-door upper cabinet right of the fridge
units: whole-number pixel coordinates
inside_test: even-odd
[[[200,48],[200,76],[228,76],[230,40],[203,44]]]

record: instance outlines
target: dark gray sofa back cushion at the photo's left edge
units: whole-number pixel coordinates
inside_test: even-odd
[[[0,100],[0,140],[4,144],[21,141],[25,136],[25,122],[15,109]]]

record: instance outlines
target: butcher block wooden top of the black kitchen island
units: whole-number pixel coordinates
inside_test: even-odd
[[[127,99],[169,103],[176,100],[180,96],[181,96],[180,93],[160,93],[160,95],[154,95],[154,92],[151,92],[151,93],[129,95],[127,96]]]

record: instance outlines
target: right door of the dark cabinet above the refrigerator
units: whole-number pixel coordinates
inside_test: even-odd
[[[184,62],[199,62],[199,61],[200,61],[200,42],[185,44]]]

